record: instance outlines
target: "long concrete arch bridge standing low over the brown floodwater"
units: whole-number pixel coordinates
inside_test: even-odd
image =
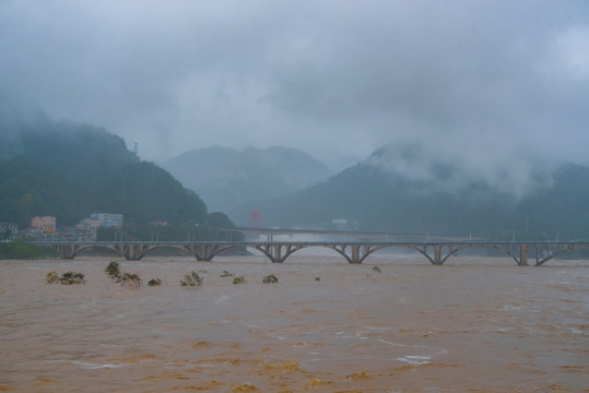
[[[451,255],[469,248],[494,248],[509,255],[519,266],[530,261],[540,266],[566,252],[589,248],[580,241],[37,241],[54,247],[61,259],[73,259],[87,249],[114,250],[128,261],[139,261],[151,251],[167,247],[184,250],[198,261],[211,261],[232,248],[251,248],[274,263],[284,262],[298,250],[323,247],[341,254],[350,263],[362,263],[373,252],[387,248],[409,248],[420,252],[432,264],[443,265]]]

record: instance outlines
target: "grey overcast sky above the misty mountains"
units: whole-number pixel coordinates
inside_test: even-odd
[[[0,105],[152,160],[400,142],[589,163],[589,1],[0,0]]]

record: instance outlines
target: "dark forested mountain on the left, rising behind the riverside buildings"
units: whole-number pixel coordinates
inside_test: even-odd
[[[36,215],[59,226],[91,213],[126,223],[203,223],[207,206],[164,169],[139,159],[122,139],[93,126],[37,119],[0,122],[0,222],[27,227]]]

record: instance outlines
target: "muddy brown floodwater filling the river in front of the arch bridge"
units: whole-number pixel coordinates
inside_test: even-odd
[[[201,287],[179,285],[191,271]],[[589,392],[588,278],[479,257],[0,261],[0,391]]]

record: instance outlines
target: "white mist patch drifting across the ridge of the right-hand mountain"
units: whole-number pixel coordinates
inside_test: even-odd
[[[483,196],[479,192],[492,191],[511,202],[550,189],[556,170],[567,164],[550,155],[539,157],[533,154],[538,152],[509,140],[504,142],[398,141],[378,150],[366,163],[407,181],[409,192],[478,199]],[[479,192],[473,192],[475,189]]]

